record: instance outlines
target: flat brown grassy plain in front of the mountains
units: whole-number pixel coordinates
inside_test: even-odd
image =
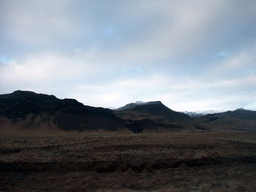
[[[256,133],[0,132],[0,191],[256,191]]]

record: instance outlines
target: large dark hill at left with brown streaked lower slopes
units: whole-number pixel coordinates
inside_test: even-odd
[[[1,127],[8,124],[20,129],[114,131],[125,126],[125,122],[110,109],[85,106],[75,99],[61,100],[53,95],[30,91],[0,95],[0,117]]]

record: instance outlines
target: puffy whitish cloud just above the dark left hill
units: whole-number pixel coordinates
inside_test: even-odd
[[[99,70],[97,63],[92,61],[52,52],[30,55],[0,65],[1,81],[4,82],[2,88],[9,91],[29,88],[45,91],[75,85],[77,80],[86,81]]]

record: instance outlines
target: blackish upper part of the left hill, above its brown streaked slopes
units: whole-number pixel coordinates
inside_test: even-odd
[[[15,91],[0,95],[0,106],[0,115],[7,118],[23,118],[31,113],[54,115],[56,112],[115,118],[110,109],[85,106],[75,99],[61,100],[53,95],[36,94],[30,91]]]

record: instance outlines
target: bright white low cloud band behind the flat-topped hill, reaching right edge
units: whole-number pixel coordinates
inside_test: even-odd
[[[172,78],[164,74],[119,79],[103,85],[80,84],[69,97],[85,104],[121,107],[129,102],[161,100],[177,111],[234,110],[250,105],[255,99],[256,76],[235,80],[205,82],[202,78]]]

